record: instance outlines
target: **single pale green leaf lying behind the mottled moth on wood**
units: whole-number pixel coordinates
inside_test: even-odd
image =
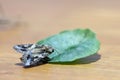
[[[54,48],[55,51],[49,55],[49,62],[72,62],[95,54],[100,48],[95,33],[89,29],[66,30],[38,41],[37,44]]]

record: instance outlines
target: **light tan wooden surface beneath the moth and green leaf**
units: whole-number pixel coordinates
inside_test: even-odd
[[[9,29],[0,26],[0,80],[119,80],[119,0],[0,0]],[[2,10],[1,10],[2,11]],[[0,13],[2,13],[0,11]],[[3,15],[2,15],[3,16]],[[15,22],[17,21],[17,23]],[[74,64],[20,65],[12,47],[34,43],[65,29],[90,28],[101,49]]]

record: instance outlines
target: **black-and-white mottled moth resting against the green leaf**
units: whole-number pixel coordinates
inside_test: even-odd
[[[20,60],[25,68],[47,63],[50,60],[48,55],[54,52],[51,46],[38,44],[21,44],[13,48],[22,53]]]

